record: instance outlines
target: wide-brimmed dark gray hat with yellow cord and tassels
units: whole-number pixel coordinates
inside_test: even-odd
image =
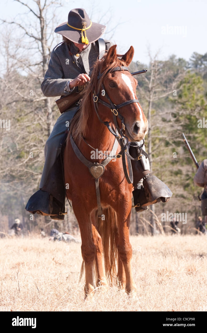
[[[91,22],[85,9],[75,8],[69,12],[68,21],[58,25],[54,32],[74,43],[89,44],[99,39],[105,29],[105,25]]]

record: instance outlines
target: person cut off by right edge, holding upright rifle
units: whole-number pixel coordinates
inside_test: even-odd
[[[197,186],[204,187],[203,193],[201,194],[201,200],[205,200],[201,202],[202,205],[202,214],[205,216],[205,224],[207,223],[207,160],[203,160],[201,165],[199,166],[194,178],[194,183]],[[205,202],[205,204],[203,204]]]

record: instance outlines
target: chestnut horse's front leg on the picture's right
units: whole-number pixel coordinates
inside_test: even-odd
[[[129,241],[129,223],[131,216],[131,202],[129,203],[128,209],[123,210],[123,207],[119,207],[117,210],[118,227],[119,227],[119,242],[117,244],[117,250],[121,261],[124,265],[126,274],[126,286],[125,290],[128,294],[135,293],[137,288],[134,283],[132,275],[132,245]]]

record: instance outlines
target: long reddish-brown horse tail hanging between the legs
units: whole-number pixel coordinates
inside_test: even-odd
[[[103,208],[102,218],[98,218],[97,212],[97,229],[102,239],[106,276],[112,282],[114,279],[116,279],[116,262],[118,261],[118,252],[115,243],[115,236],[117,232],[117,214],[114,209],[111,207]],[[79,282],[83,276],[83,273],[84,261],[81,265]]]

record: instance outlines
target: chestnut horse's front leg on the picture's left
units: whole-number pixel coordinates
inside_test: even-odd
[[[80,202],[81,200],[74,200],[76,202]],[[92,240],[92,227],[91,227],[91,219],[90,213],[87,212],[85,207],[80,209],[80,206],[75,204],[73,201],[73,211],[77,218],[80,234],[81,234],[81,253],[83,257],[83,261],[85,264],[85,298],[90,295],[91,297],[94,295],[94,287],[93,287],[93,262],[95,259],[95,245]]]

